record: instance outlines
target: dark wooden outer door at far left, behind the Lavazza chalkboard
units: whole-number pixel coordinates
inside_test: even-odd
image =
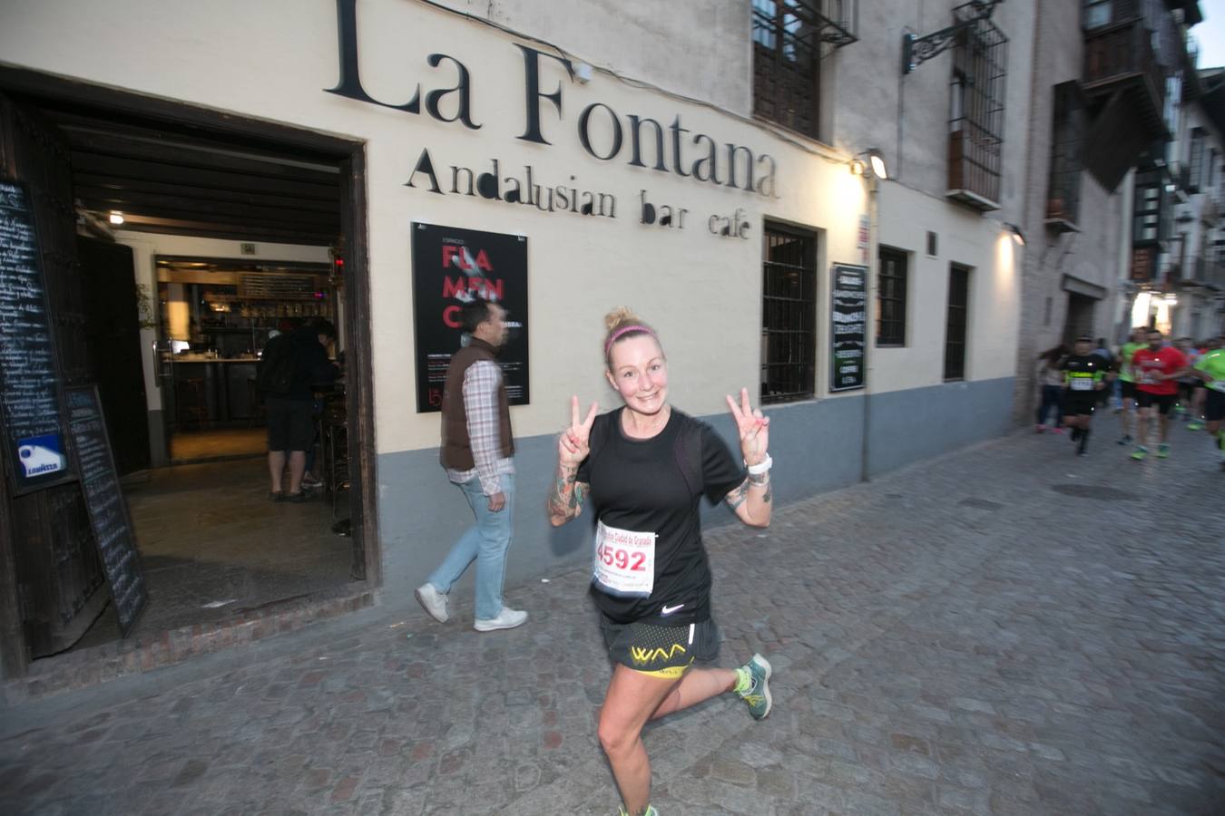
[[[28,190],[61,387],[93,382],[76,263],[69,148],[29,106],[0,94],[0,172]],[[0,491],[0,657],[7,677],[75,644],[108,592],[80,482]]]

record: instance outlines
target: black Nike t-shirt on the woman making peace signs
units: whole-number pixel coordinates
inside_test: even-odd
[[[621,412],[595,417],[592,453],[577,480],[590,486],[588,502],[609,527],[655,533],[654,586],[649,597],[616,597],[593,581],[595,606],[616,623],[650,620],[681,625],[710,617],[710,568],[702,546],[698,505],[723,500],[747,472],[710,426],[673,409],[664,429],[631,439]],[[663,614],[664,609],[669,614]]]

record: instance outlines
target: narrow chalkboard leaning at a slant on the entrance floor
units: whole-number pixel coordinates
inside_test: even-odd
[[[98,388],[69,388],[65,395],[72,450],[81,472],[89,524],[110,582],[110,598],[115,603],[119,629],[126,636],[148,599],[131,516],[119,489],[119,472],[107,437]]]

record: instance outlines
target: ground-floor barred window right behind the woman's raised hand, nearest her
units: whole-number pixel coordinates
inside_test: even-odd
[[[817,241],[766,225],[762,263],[762,402],[812,396],[816,382]]]

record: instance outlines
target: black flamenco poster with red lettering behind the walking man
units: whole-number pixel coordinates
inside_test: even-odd
[[[475,297],[506,310],[510,333],[499,355],[511,405],[527,405],[528,240],[435,224],[413,224],[413,323],[417,333],[417,412],[442,406],[451,356],[468,338],[459,310]]]

